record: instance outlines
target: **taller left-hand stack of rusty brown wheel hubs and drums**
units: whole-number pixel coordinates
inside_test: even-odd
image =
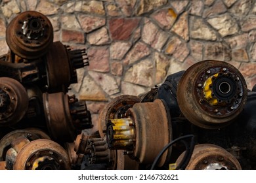
[[[8,25],[0,57],[0,169],[72,169],[74,140],[91,128],[85,101],[67,94],[85,49],[53,41],[43,14],[27,11]],[[71,154],[70,154],[71,153]]]

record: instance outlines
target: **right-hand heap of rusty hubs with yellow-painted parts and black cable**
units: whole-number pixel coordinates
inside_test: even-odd
[[[238,69],[200,61],[145,95],[113,99],[75,152],[83,169],[256,169],[255,105]]]

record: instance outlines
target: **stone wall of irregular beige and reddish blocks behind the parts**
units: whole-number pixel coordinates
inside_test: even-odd
[[[2,0],[0,54],[16,14],[36,10],[51,20],[54,41],[87,48],[70,93],[87,100],[93,121],[118,95],[140,95],[167,75],[203,59],[231,63],[249,89],[256,82],[256,0]]]

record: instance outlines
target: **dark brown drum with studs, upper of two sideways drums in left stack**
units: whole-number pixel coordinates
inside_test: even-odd
[[[83,50],[70,50],[62,42],[53,42],[47,52],[47,83],[51,92],[66,92],[70,84],[77,82],[75,69],[89,65],[87,53]],[[60,68],[61,65],[61,69]]]

